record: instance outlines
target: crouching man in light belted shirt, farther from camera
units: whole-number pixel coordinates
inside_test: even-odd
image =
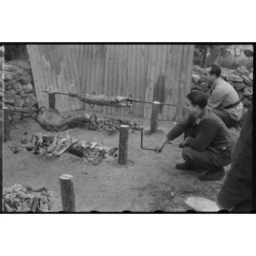
[[[220,78],[221,68],[217,65],[205,70],[206,82],[211,86],[207,107],[220,117],[227,127],[233,127],[243,116],[243,103],[231,84]]]

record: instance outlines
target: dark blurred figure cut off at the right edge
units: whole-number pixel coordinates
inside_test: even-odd
[[[228,211],[252,209],[252,103],[231,156],[231,167],[217,194],[217,205]]]

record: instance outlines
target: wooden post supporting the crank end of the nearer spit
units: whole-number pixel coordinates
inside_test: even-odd
[[[128,134],[129,134],[129,126],[128,125],[121,125],[120,126],[120,134],[119,134],[118,162],[119,162],[119,164],[122,164],[122,165],[127,164]]]

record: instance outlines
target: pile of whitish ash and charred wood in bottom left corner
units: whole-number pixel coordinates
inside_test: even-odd
[[[26,184],[14,184],[3,189],[4,211],[46,212],[52,209],[52,192],[48,189],[32,189]]]

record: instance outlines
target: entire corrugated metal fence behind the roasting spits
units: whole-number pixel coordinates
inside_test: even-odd
[[[42,90],[132,95],[180,106],[190,92],[194,45],[28,45],[39,106],[48,106]],[[78,99],[56,95],[60,111],[90,109]],[[94,106],[106,114],[150,118],[151,105],[131,108]],[[176,108],[161,106],[162,120],[173,120]]]

